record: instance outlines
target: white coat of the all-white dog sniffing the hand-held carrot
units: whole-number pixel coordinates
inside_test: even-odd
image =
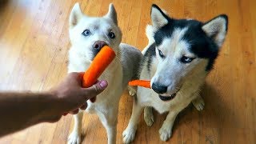
[[[90,30],[90,35],[82,35],[84,30]],[[108,34],[114,32],[115,38]],[[92,18],[82,14],[78,3],[74,5],[70,14],[70,42],[68,72],[85,71],[94,58],[94,42],[104,41],[110,46],[116,58],[103,72],[99,79],[108,82],[108,87],[98,94],[96,102],[87,101],[86,112],[98,114],[106,128],[108,143],[116,142],[118,122],[118,102],[127,83],[135,77],[138,62],[142,57],[139,50],[132,46],[121,44],[122,33],[118,28],[117,14],[110,4],[108,13],[100,18]],[[68,143],[81,142],[82,110],[74,115],[74,130],[69,136]]]

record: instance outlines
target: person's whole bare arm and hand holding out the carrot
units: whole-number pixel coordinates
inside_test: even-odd
[[[62,114],[85,110],[86,101],[100,94],[107,86],[98,81],[82,88],[82,74],[70,73],[54,89],[46,93],[0,92],[0,137],[39,122],[57,122]]]

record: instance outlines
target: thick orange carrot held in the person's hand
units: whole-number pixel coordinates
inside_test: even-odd
[[[103,46],[83,75],[82,87],[87,88],[93,86],[98,81],[103,71],[106,70],[106,67],[114,60],[114,57],[114,50],[109,46]],[[95,100],[96,97],[90,99],[91,102],[95,102]]]

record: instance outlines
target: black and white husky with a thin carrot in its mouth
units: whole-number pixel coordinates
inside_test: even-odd
[[[142,51],[140,79],[151,80],[152,90],[138,87],[129,125],[123,142],[134,140],[139,116],[144,109],[147,126],[154,122],[152,107],[159,113],[169,112],[158,131],[162,141],[172,134],[177,114],[192,102],[202,110],[200,87],[214,65],[226,37],[225,14],[209,22],[170,18],[158,6],[151,8],[152,26],[147,26],[149,45]]]

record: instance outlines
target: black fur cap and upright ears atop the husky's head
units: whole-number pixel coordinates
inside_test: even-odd
[[[206,23],[170,18],[157,5],[152,5],[150,14],[152,24],[156,28],[154,32],[156,46],[161,45],[164,38],[171,38],[174,30],[187,28],[183,39],[189,42],[190,52],[198,58],[209,59],[206,70],[211,70],[226,37],[228,18],[225,14]]]

